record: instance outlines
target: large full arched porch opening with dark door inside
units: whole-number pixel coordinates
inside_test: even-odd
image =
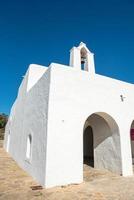
[[[115,120],[107,113],[94,113],[87,118],[83,132],[83,163],[121,174],[120,134]]]

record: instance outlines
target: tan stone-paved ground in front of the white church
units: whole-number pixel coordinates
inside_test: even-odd
[[[43,189],[2,148],[0,143],[0,200],[134,200],[134,177],[84,166],[84,182]]]

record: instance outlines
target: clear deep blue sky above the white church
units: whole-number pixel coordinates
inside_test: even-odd
[[[9,113],[30,63],[68,64],[85,42],[96,72],[134,83],[133,0],[4,0],[0,5],[0,112]]]

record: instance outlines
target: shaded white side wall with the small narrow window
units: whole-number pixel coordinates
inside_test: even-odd
[[[11,112],[9,122],[6,127],[6,137],[11,132],[9,153],[17,163],[31,174],[41,185],[45,184],[45,163],[46,163],[46,143],[47,143],[47,118],[48,118],[48,100],[50,85],[50,69],[46,71],[45,67],[39,68],[37,73],[36,66],[30,66],[25,79],[19,89],[19,94],[13,113]],[[29,74],[35,70],[39,75],[30,83],[27,91]],[[32,72],[31,72],[32,71]],[[42,76],[41,76],[42,71]],[[27,137],[32,136],[31,158],[26,158]],[[7,148],[7,139],[4,147]]]

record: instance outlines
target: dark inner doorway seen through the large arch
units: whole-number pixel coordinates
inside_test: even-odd
[[[94,167],[94,145],[93,145],[93,130],[88,126],[84,130],[83,136],[83,156],[84,164]]]

